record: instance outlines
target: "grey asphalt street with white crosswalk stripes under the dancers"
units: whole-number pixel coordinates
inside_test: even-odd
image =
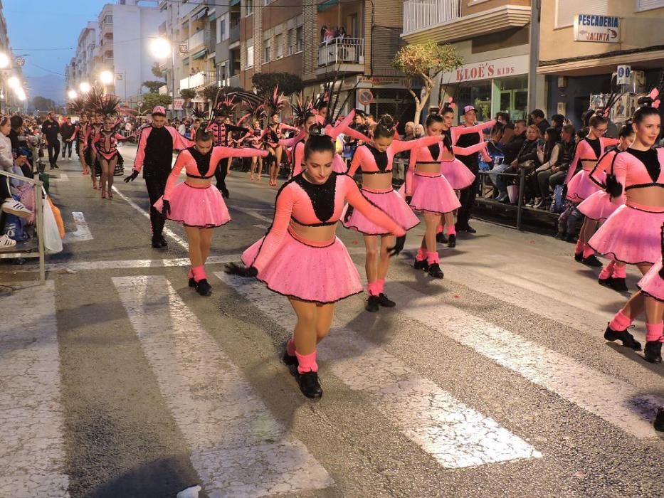
[[[312,402],[279,361],[287,300],[223,273],[270,225],[265,177],[228,177],[201,297],[181,226],[150,247],[141,178],[102,200],[59,164],[68,235],[46,285],[34,260],[0,265],[0,497],[664,496],[664,366],[604,341],[626,296],[573,246],[476,221],[438,281],[412,268],[414,228],[397,307],[338,304]],[[364,275],[362,238],[338,235]]]

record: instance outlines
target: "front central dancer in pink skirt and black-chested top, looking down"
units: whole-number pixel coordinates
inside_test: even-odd
[[[308,398],[322,396],[316,344],[330,332],[334,303],[362,292],[357,269],[335,235],[344,202],[398,237],[391,255],[399,254],[406,234],[362,196],[352,178],[332,171],[334,142],[322,132],[311,130],[305,170],[281,187],[270,231],[242,255],[246,267],[227,267],[228,272],[257,277],[268,289],[288,297],[297,324],[284,362],[297,365],[297,383]]]

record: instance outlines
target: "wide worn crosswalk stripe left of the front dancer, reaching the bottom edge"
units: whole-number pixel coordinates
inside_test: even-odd
[[[288,435],[164,277],[114,277],[159,388],[210,497],[333,484]]]

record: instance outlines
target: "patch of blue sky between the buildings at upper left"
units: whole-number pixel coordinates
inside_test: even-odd
[[[14,55],[28,54],[23,74],[28,80],[29,97],[43,95],[63,100],[65,65],[75,53],[78,34],[87,21],[97,19],[104,4],[111,2],[4,0],[2,3]]]

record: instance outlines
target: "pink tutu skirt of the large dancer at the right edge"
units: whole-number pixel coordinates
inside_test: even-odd
[[[655,264],[662,259],[664,213],[619,206],[588,241],[591,248],[628,265]]]

